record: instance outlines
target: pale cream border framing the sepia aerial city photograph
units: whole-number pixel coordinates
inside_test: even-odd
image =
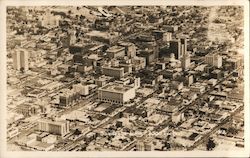
[[[170,151],[170,152],[10,152],[6,149],[6,6],[49,6],[49,5],[243,5],[244,6],[244,84],[245,84],[245,151]],[[47,158],[47,157],[249,157],[249,1],[248,0],[0,0],[0,157]]]

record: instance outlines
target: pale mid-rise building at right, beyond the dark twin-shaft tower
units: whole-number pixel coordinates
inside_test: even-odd
[[[220,68],[222,67],[222,57],[217,53],[207,54],[205,56],[205,63]]]

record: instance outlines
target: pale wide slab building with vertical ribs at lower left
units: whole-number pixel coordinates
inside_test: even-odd
[[[65,136],[69,133],[69,122],[42,119],[38,121],[38,130],[51,134]]]

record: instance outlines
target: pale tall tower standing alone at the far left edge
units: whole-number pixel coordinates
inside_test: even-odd
[[[29,69],[29,53],[27,51],[15,51],[13,53],[13,67],[18,71]]]

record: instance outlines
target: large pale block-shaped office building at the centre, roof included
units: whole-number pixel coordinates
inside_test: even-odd
[[[98,89],[98,99],[104,102],[124,104],[134,97],[133,86],[110,83]]]

